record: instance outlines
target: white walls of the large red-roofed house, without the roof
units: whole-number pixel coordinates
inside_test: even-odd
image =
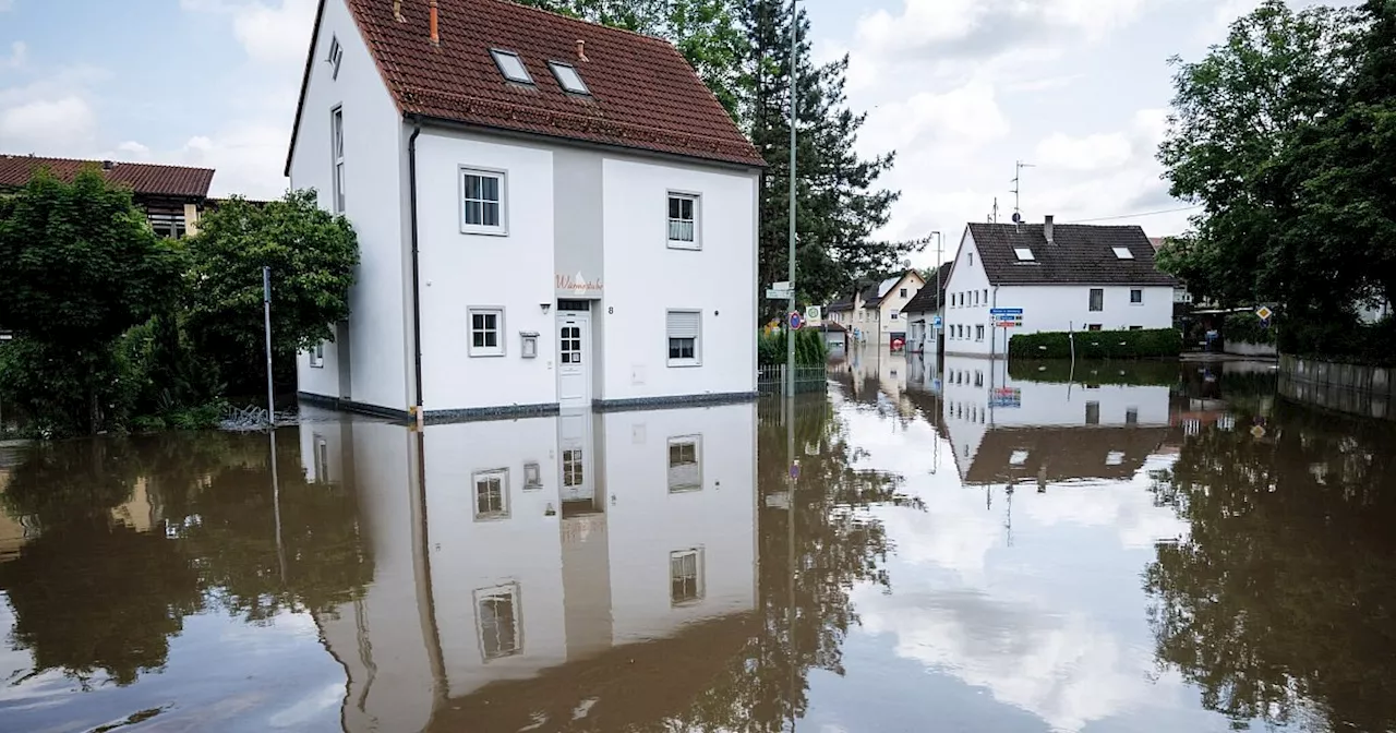
[[[413,281],[413,133],[345,1],[325,1],[288,172],[335,211],[342,166],[362,264],[335,342],[299,355],[300,392],[427,415],[755,392],[759,172],[423,126]],[[466,221],[468,175],[498,182],[500,226]],[[692,201],[692,243],[669,242],[670,195]],[[697,334],[671,352],[676,313]]]

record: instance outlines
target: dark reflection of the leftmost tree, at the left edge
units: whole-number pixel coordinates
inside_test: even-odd
[[[39,445],[6,486],[6,510],[39,528],[0,564],[10,641],[34,652],[32,674],[60,669],[87,686],[102,670],[130,684],[165,663],[169,638],[201,606],[181,549],[112,517],[133,494],[130,455],[124,441]]]

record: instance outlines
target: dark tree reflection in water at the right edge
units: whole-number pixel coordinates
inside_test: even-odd
[[[1145,575],[1161,663],[1235,720],[1396,727],[1396,426],[1280,403],[1188,440],[1160,500],[1192,525]]]

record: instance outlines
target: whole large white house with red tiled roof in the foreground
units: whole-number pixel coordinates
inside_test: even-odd
[[[761,166],[667,42],[321,0],[286,175],[362,262],[299,391],[447,419],[754,395]]]

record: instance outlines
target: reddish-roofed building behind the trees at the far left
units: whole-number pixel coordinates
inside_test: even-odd
[[[208,205],[208,187],[214,182],[214,170],[208,168],[0,154],[0,194],[22,187],[40,168],[64,182],[71,182],[84,168],[99,170],[106,180],[131,190],[155,233],[174,239],[198,230],[198,218]]]

